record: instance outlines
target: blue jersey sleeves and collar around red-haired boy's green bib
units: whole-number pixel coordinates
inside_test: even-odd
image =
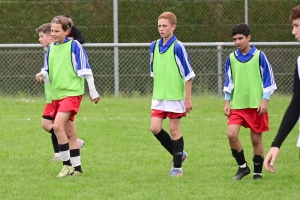
[[[177,40],[176,36],[173,35],[169,41],[163,46],[163,40],[159,40],[159,52],[163,53],[169,49],[169,47],[173,44],[173,42]],[[150,75],[154,76],[153,73],[153,55],[156,41],[152,42],[150,45]],[[188,81],[195,77],[195,73],[191,67],[190,58],[186,52],[186,49],[182,42],[177,41],[174,47],[174,57],[176,60],[176,64],[178,66],[180,75],[183,77],[185,81]]]

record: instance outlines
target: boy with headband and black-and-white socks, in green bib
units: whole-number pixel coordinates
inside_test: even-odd
[[[71,23],[66,17],[52,19],[51,35],[54,43],[48,47],[44,69],[39,74],[51,83],[53,110],[50,114],[55,118],[53,129],[63,161],[63,168],[57,175],[59,178],[82,174],[73,121],[84,94],[84,79],[88,83],[91,100],[95,104],[100,100],[85,50],[78,41],[67,37],[70,28]]]

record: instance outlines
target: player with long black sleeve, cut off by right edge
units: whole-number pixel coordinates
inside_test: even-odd
[[[300,5],[294,7],[291,11],[290,19],[293,22],[292,34],[300,42]],[[277,135],[272,142],[271,149],[269,150],[264,165],[267,171],[275,172],[275,162],[279,155],[280,146],[285,138],[289,135],[291,130],[299,119],[300,114],[300,56],[297,59],[296,68],[294,71],[294,84],[292,100],[285,111],[282,118]]]

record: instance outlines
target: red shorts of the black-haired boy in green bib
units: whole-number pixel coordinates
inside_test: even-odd
[[[270,130],[268,113],[259,116],[257,108],[230,110],[227,124],[241,125],[250,128],[254,133]]]

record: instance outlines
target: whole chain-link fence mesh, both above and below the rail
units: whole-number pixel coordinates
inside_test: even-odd
[[[248,24],[255,42],[293,42],[291,8],[298,0],[248,1]],[[86,43],[113,42],[113,0],[0,1],[0,44],[37,43],[35,28],[56,15],[71,15]],[[119,0],[120,43],[150,43],[159,37],[157,17],[172,11],[178,17],[176,36],[182,42],[231,42],[231,27],[245,21],[244,0]],[[277,93],[290,94],[293,71],[299,53],[297,46],[258,46],[273,66]],[[114,50],[112,47],[85,47],[102,96],[114,95]],[[187,47],[197,75],[194,95],[218,94],[217,48]],[[222,49],[222,66],[233,46]],[[0,48],[0,95],[42,95],[35,82],[42,67],[42,48]],[[223,72],[223,69],[222,69]],[[223,77],[224,80],[224,77]],[[87,87],[86,87],[87,88]],[[119,94],[149,95],[148,47],[119,48]]]

